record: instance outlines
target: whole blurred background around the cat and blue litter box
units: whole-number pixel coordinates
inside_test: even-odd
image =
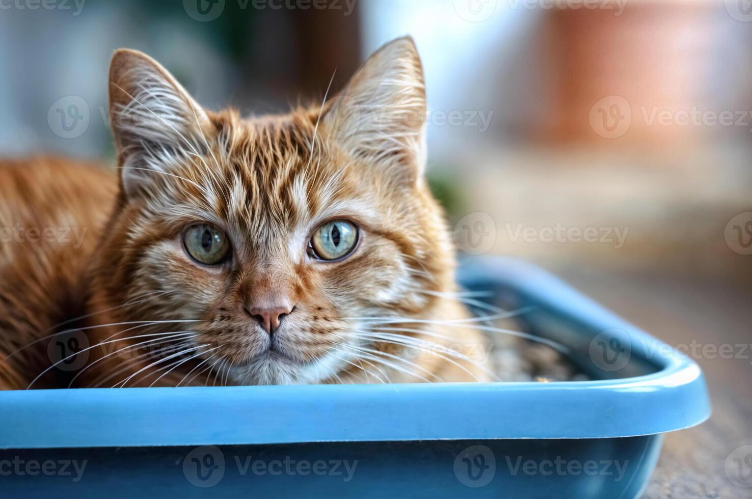
[[[746,497],[723,463],[752,443],[749,0],[2,0],[0,154],[111,163],[118,47],[206,107],[271,113],[405,34],[461,252],[535,262],[698,343],[714,419],[669,435],[647,494]]]

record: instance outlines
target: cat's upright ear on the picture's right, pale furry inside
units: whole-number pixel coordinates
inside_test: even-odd
[[[371,55],[324,110],[323,132],[353,156],[405,180],[426,164],[426,89],[411,37]]]

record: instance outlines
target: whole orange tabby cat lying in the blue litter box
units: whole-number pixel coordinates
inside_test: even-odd
[[[0,388],[489,379],[423,177],[411,38],[323,106],[247,119],[118,50],[110,110],[119,179],[0,168]]]

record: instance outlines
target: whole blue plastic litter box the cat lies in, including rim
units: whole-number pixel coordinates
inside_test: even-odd
[[[0,497],[638,497],[710,415],[697,364],[550,274],[461,277],[593,380],[0,392]]]

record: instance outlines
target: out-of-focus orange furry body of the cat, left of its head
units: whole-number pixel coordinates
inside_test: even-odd
[[[47,336],[86,313],[84,276],[116,193],[117,176],[96,165],[0,161],[0,389],[25,389],[51,364]]]

